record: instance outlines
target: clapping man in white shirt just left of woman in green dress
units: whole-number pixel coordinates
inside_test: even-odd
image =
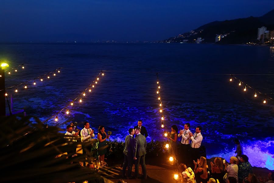
[[[81,130],[81,142],[83,154],[86,154],[88,163],[91,165],[91,139],[95,137],[93,129],[90,128],[89,122],[84,122],[84,128]],[[86,164],[86,158],[84,159],[84,165]]]

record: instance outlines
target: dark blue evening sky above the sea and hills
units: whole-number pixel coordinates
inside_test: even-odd
[[[0,42],[162,40],[272,9],[273,0],[0,0]]]

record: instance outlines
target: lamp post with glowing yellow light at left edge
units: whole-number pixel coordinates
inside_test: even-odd
[[[0,70],[0,116],[6,115],[6,106],[5,106],[5,69],[9,68],[9,64],[1,63]]]

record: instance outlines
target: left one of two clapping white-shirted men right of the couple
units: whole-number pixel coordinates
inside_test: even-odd
[[[184,124],[184,130],[180,130],[180,133],[178,137],[182,136],[181,140],[181,146],[180,146],[180,157],[181,162],[184,164],[189,164],[188,157],[189,157],[189,149],[190,149],[190,139],[189,139],[189,133],[191,132],[189,130],[190,124],[186,123]]]

